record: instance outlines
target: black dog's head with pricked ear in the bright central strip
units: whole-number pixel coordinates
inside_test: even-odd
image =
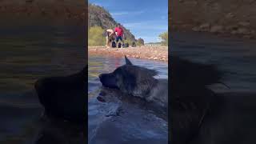
[[[134,66],[128,58],[126,64],[118,67],[110,74],[100,74],[102,86],[121,90],[124,94],[145,97],[158,82],[154,78],[155,70]]]

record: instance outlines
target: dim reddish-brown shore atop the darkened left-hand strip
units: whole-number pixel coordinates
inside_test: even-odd
[[[87,7],[83,1],[27,0],[0,2],[1,25],[85,25]],[[22,19],[22,21],[21,21]]]

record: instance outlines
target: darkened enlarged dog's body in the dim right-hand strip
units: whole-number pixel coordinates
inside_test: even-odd
[[[256,94],[214,94],[224,74],[216,66],[170,58],[170,130],[173,144],[254,143]]]

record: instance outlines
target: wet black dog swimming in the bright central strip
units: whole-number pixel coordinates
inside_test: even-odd
[[[122,94],[145,99],[155,106],[168,106],[168,80],[154,78],[155,70],[134,66],[128,58],[126,64],[118,67],[110,74],[100,74],[102,86],[118,89]],[[98,97],[98,99],[104,99]]]

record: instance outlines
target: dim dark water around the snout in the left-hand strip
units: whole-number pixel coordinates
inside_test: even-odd
[[[86,65],[78,27],[21,26],[0,29],[0,143],[35,143],[40,134],[85,142],[77,128],[39,122],[38,78],[74,74]],[[46,130],[48,132],[46,132]],[[73,134],[73,136],[70,136]],[[75,136],[74,136],[75,135]],[[63,138],[65,141],[66,139]]]

